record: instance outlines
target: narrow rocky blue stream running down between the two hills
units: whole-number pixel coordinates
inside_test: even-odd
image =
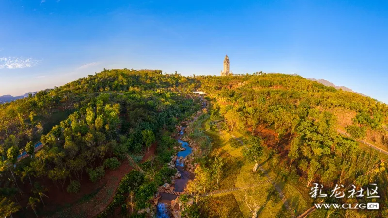
[[[175,180],[174,191],[179,191],[179,192],[184,190],[187,182],[189,181],[189,179],[192,178],[192,175],[184,169],[183,161],[182,162],[179,161],[180,157],[182,157],[182,159],[184,159],[186,156],[188,156],[192,152],[192,148],[189,146],[189,143],[181,140],[181,138],[184,134],[185,128],[186,127],[182,127],[180,130],[180,134],[175,138],[179,142],[179,144],[181,144],[181,146],[183,148],[185,148],[185,150],[178,152],[178,154],[177,154],[178,158],[175,162],[175,166],[178,169],[179,173],[181,174],[181,177]],[[156,205],[156,209],[157,209],[156,217],[157,218],[170,218],[171,217],[171,211],[170,211],[171,200],[175,200],[178,196],[173,195],[173,194],[164,193],[164,192],[160,193],[160,195],[161,195],[161,198],[159,199],[159,202]]]

